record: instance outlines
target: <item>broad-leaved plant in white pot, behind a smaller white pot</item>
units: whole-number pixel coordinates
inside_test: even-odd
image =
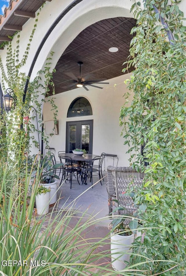
[[[52,156],[45,156],[41,159],[40,168],[40,184],[46,188],[50,188],[50,207],[57,200],[57,181],[55,179],[60,178],[55,174],[55,170],[61,166],[61,164],[53,164],[52,158]]]

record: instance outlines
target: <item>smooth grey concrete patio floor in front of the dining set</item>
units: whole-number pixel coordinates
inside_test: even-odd
[[[57,193],[57,198],[61,198],[59,199],[58,208],[61,208],[64,204],[65,207],[70,207],[75,201],[76,205],[73,208],[81,212],[87,210],[89,215],[94,216],[95,219],[100,219],[99,226],[104,226],[108,229],[108,224],[111,220],[108,219],[108,193],[105,186],[107,173],[104,171],[103,177],[104,181],[101,181],[101,186],[98,175],[93,176],[93,184],[99,181],[93,188],[89,179],[87,179],[87,185],[79,185],[77,179],[73,177],[71,189],[69,181],[66,181],[67,183],[63,182]],[[79,181],[81,183],[81,180]],[[103,217],[104,219],[101,219]]]

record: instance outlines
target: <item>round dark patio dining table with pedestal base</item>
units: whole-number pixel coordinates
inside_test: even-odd
[[[99,155],[95,154],[85,154],[84,155],[78,155],[74,153],[60,153],[60,157],[65,157],[64,159],[72,159],[73,161],[77,161],[78,168],[80,169],[80,175],[81,175],[81,182],[82,184],[87,185],[87,173],[85,170],[85,163],[87,161],[92,161],[95,157],[99,157]],[[101,157],[100,157],[101,158]]]

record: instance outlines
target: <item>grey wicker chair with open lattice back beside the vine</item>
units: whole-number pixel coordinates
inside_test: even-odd
[[[131,167],[107,167],[108,182],[106,184],[108,193],[109,214],[118,206],[123,206],[126,211],[122,214],[133,214],[137,208],[133,204],[133,199],[125,193],[131,188],[142,186],[144,173],[137,172]],[[117,199],[119,204],[113,201]],[[121,212],[119,213],[121,215]]]

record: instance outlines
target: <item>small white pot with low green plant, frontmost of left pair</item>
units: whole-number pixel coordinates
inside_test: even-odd
[[[44,215],[49,212],[49,201],[50,201],[50,188],[46,188],[39,185],[37,188],[37,194],[35,197],[35,203],[38,215]]]

